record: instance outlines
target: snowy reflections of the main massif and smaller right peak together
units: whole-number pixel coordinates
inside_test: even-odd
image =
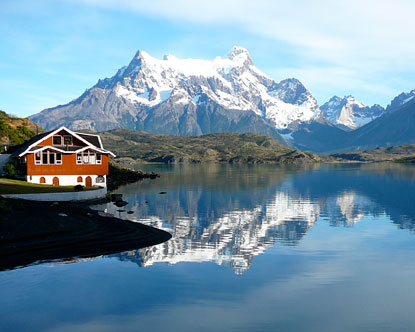
[[[117,207],[110,207],[116,213]],[[291,196],[277,191],[267,203],[251,209],[235,209],[206,222],[203,215],[177,216],[172,221],[152,215],[127,218],[171,232],[171,240],[116,257],[140,266],[157,263],[215,262],[229,266],[236,274],[248,270],[253,259],[264,253],[276,240],[293,245],[316,224],[319,216],[327,216],[331,225],[352,227],[376,204],[366,196],[346,190],[324,201]]]

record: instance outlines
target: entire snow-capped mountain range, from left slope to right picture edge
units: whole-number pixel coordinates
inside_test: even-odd
[[[213,60],[160,60],[138,51],[128,66],[80,97],[29,118],[45,129],[254,132],[303,150],[336,152],[414,143],[411,122],[405,122],[415,112],[414,97],[415,90],[402,93],[385,109],[334,96],[319,107],[299,80],[274,81],[242,47]]]

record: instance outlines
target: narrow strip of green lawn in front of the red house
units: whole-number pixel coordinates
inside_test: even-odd
[[[87,188],[84,190],[95,190],[97,188]],[[59,193],[73,192],[74,186],[52,186],[49,184],[29,183],[26,181],[0,178],[1,194],[35,194],[35,193]]]

